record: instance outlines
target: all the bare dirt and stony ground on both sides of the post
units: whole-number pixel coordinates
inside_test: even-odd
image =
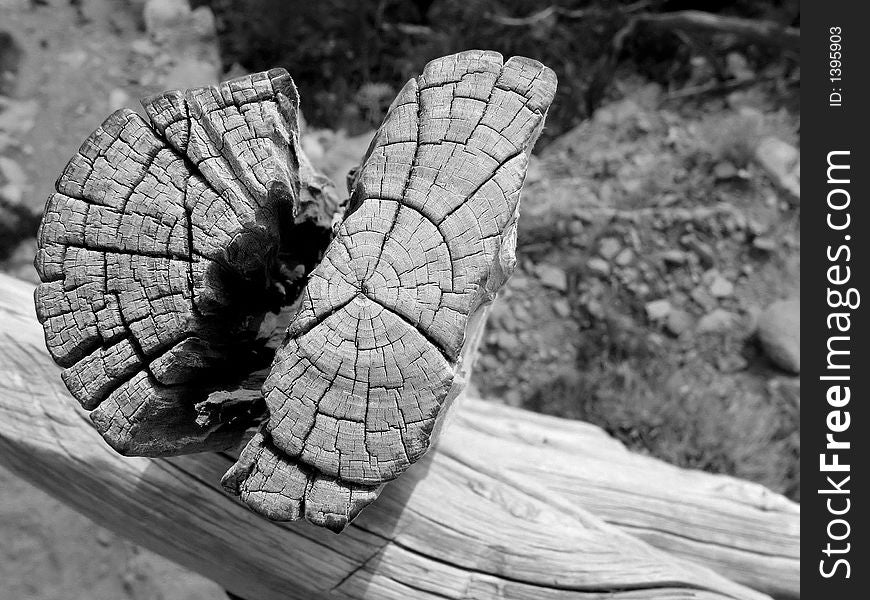
[[[105,116],[220,70],[207,23],[179,52],[148,35],[143,4],[0,0],[20,50],[0,60],[14,79],[0,87],[0,270],[35,281],[44,200]],[[690,97],[626,75],[620,100],[539,149],[473,378],[485,397],[799,500],[798,88],[765,75]],[[320,130],[305,145],[343,183],[368,141]],[[3,470],[0,539],[0,600],[222,597]]]

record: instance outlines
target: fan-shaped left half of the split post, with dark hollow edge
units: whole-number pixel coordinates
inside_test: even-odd
[[[58,179],[37,314],[64,383],[119,452],[225,448],[244,432],[204,430],[194,404],[247,359],[298,226],[329,231],[322,214],[337,208],[300,152],[298,103],[281,69],[153,96],[150,122],[114,113]]]

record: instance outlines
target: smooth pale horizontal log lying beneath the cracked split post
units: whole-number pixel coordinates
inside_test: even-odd
[[[341,536],[263,519],[217,485],[226,455],[124,458],[101,443],[45,352],[32,292],[0,275],[0,460],[243,597],[762,597],[675,554],[797,596],[793,503],[634,455],[591,425],[474,399]]]

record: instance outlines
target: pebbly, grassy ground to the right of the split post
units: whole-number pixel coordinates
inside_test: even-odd
[[[799,499],[798,117],[623,95],[540,152],[473,381]]]

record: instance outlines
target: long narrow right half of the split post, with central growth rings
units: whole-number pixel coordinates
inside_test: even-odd
[[[555,90],[537,61],[468,51],[399,92],[263,387],[269,418],[224,478],[254,510],[341,531],[426,452],[469,319],[516,262]]]

